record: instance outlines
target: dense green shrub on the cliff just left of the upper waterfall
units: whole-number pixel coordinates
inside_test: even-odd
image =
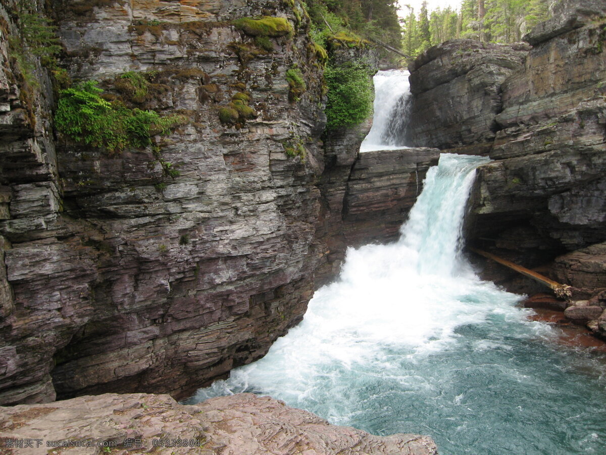
[[[367,65],[348,62],[342,66],[327,65],[327,129],[361,123],[373,106],[373,84]]]

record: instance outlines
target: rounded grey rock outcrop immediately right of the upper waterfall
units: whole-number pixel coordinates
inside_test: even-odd
[[[458,39],[421,54],[409,67],[413,97],[402,140],[441,149],[491,142],[501,83],[522,66],[529,48]]]

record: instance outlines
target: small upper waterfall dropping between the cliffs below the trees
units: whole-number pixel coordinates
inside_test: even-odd
[[[406,114],[406,100],[410,96],[410,84],[405,70],[378,71],[373,77],[375,84],[375,113],[373,126],[360,146],[361,152],[406,148],[399,143],[399,131]]]

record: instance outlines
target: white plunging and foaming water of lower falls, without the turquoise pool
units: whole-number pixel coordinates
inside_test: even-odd
[[[299,326],[264,358],[233,370],[196,399],[251,387],[293,404],[313,401],[330,387],[339,397],[335,405],[343,404],[348,384],[341,376],[357,368],[428,387],[427,380],[402,372],[403,358],[415,364],[450,349],[460,338],[458,327],[495,314],[522,321],[524,314],[513,307],[518,296],[480,281],[461,256],[474,169],[487,161],[442,154],[397,243],[347,250],[338,281],[315,293]]]

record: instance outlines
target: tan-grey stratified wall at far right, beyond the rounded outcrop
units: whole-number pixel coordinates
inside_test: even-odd
[[[527,36],[524,68],[502,85],[477,208],[527,218],[568,250],[604,240],[606,228],[606,7],[586,7],[563,2]]]

